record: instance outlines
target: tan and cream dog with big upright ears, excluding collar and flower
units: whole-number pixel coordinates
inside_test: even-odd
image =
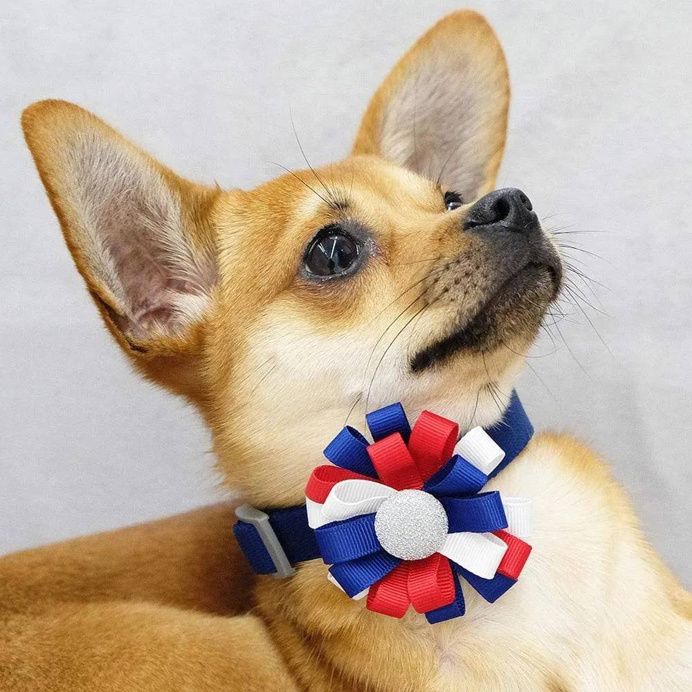
[[[385,80],[352,156],[251,192],[184,181],[65,102],[23,125],[113,336],[197,405],[228,485],[281,507],[366,410],[500,419],[561,282],[540,226],[511,232],[525,197],[471,206],[508,102],[491,28],[457,12]],[[251,579],[225,505],[3,558],[0,689],[692,689],[690,597],[599,459],[537,435],[491,487],[531,498],[534,552],[500,601],[469,591],[435,626],[365,610],[321,561]]]

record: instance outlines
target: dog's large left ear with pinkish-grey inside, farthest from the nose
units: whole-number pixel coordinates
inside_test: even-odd
[[[71,103],[35,103],[21,123],[75,264],[118,343],[145,371],[156,365],[142,361],[194,350],[217,276],[206,221],[217,190],[179,178]]]

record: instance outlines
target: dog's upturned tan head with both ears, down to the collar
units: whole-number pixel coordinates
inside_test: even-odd
[[[197,403],[230,484],[284,504],[365,410],[500,415],[561,283],[529,199],[492,192],[508,102],[493,31],[457,12],[394,67],[349,158],[249,192],[185,181],[66,102],[23,125],[113,336]]]

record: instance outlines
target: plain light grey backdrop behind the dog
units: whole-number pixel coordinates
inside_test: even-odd
[[[500,185],[528,192],[608,286],[535,349],[539,426],[612,463],[692,585],[692,6],[475,2],[513,83]],[[189,408],[140,381],[98,322],[19,131],[39,98],[82,104],[199,181],[251,186],[343,156],[390,66],[456,3],[3,3],[0,552],[221,496]],[[593,257],[596,253],[603,259]],[[584,264],[579,264],[583,262]],[[542,382],[543,381],[543,382]],[[544,384],[545,383],[545,384]],[[588,531],[588,527],[585,527]]]

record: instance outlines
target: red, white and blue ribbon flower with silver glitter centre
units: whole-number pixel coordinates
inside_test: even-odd
[[[329,579],[367,608],[430,623],[464,614],[462,576],[493,603],[516,583],[531,546],[530,502],[481,492],[504,451],[482,428],[424,411],[410,427],[401,403],[367,415],[374,442],[347,426],[305,489]]]

